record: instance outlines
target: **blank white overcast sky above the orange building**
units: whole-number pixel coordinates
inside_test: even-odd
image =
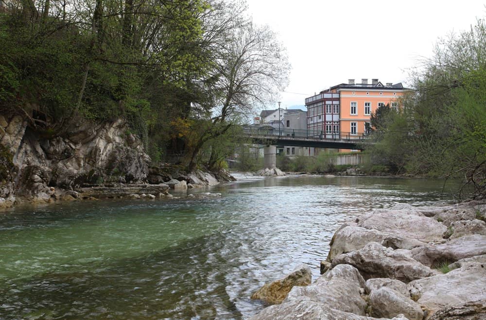
[[[287,48],[292,70],[281,93],[284,108],[348,79],[406,84],[409,69],[432,56],[439,37],[468,30],[486,16],[484,0],[247,3],[253,21],[270,25]]]

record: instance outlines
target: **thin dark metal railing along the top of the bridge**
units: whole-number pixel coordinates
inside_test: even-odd
[[[281,136],[281,137],[291,137],[291,138],[305,138],[305,139],[331,139],[331,140],[364,140],[368,135],[360,133],[353,134],[350,132],[310,132],[308,130],[298,130],[298,129],[278,129],[278,128],[257,128],[257,127],[245,127],[243,128],[245,135],[251,136]]]

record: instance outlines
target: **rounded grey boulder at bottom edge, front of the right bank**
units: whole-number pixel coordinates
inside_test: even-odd
[[[373,317],[392,318],[403,314],[409,320],[422,320],[424,316],[415,301],[385,286],[371,291],[369,306]]]

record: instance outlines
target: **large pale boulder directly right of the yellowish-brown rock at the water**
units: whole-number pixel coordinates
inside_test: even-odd
[[[306,297],[328,308],[364,316],[366,302],[360,293],[363,289],[364,279],[356,268],[338,265],[311,286],[294,287],[284,303]]]

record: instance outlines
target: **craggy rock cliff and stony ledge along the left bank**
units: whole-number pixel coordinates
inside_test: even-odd
[[[234,181],[225,170],[186,173],[150,166],[141,140],[121,119],[73,119],[59,132],[0,115],[0,208],[18,203],[170,197],[169,191]]]

